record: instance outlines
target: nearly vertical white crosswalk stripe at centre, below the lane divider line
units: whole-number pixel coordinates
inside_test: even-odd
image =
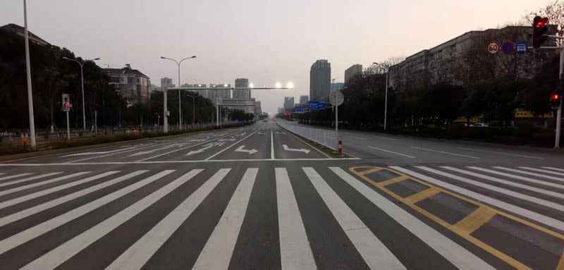
[[[317,269],[286,168],[274,168],[282,270]]]

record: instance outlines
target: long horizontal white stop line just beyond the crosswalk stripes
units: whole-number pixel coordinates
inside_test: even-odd
[[[210,159],[210,160],[163,160],[163,161],[115,161],[115,162],[82,162],[82,163],[27,163],[27,164],[0,164],[0,167],[16,166],[85,166],[85,165],[123,165],[123,164],[175,164],[175,163],[207,163],[207,162],[245,162],[245,161],[343,161],[361,160],[358,157],[344,157],[339,159],[313,158],[313,159]]]

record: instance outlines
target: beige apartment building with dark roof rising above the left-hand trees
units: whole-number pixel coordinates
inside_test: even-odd
[[[141,71],[125,64],[125,68],[104,68],[110,77],[110,85],[121,94],[128,104],[146,102],[149,98],[151,80]]]

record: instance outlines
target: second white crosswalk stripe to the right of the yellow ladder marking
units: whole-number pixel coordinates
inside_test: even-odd
[[[523,193],[515,192],[513,190],[507,190],[505,188],[496,187],[495,185],[489,185],[489,184],[482,183],[482,182],[479,182],[479,181],[474,181],[474,180],[471,180],[471,179],[468,179],[468,178],[455,176],[455,175],[450,174],[450,173],[445,173],[443,171],[435,170],[434,168],[429,168],[429,167],[425,167],[425,166],[416,166],[416,168],[422,169],[424,171],[429,171],[431,173],[436,173],[439,176],[446,176],[446,177],[454,179],[454,180],[459,180],[459,181],[464,182],[464,183],[469,183],[470,185],[475,185],[475,186],[480,187],[480,188],[486,188],[488,190],[493,190],[495,192],[499,192],[501,194],[505,194],[505,195],[508,195],[508,196],[511,196],[511,197],[515,197],[515,198],[520,199],[520,200],[533,202],[535,204],[539,204],[539,205],[544,206],[544,207],[549,207],[549,208],[552,208],[552,209],[556,209],[558,211],[564,211],[564,205],[557,204],[557,203],[554,203],[554,202],[550,202],[550,201],[547,201],[547,200],[542,200],[542,199],[539,199],[537,197],[532,197],[532,196],[529,196],[529,195],[525,195]]]

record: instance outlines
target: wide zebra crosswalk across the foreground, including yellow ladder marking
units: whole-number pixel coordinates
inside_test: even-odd
[[[563,168],[65,169],[3,172],[1,269],[564,267]]]

